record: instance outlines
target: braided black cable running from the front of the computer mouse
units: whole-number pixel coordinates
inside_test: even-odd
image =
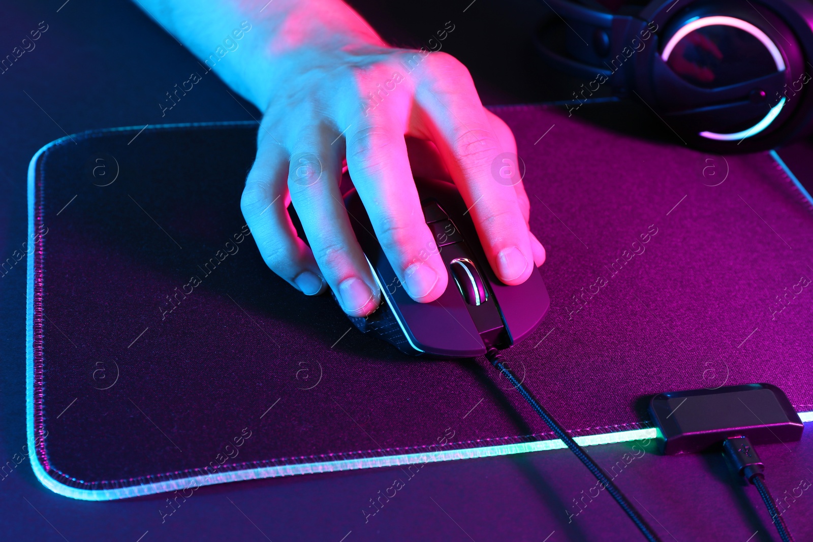
[[[512,373],[511,370],[505,366],[505,364],[501,361],[498,349],[490,348],[489,351],[485,353],[485,357],[495,368],[498,369],[498,371],[502,373],[503,376],[506,377],[506,379],[508,379],[509,382],[511,382],[511,385],[513,385],[514,388],[520,392],[520,395],[525,398],[525,401],[528,401],[528,404],[531,405],[533,410],[539,414],[542,421],[544,421],[547,426],[550,427],[550,430],[553,431],[554,434],[567,445],[567,448],[569,448],[572,453],[576,454],[576,457],[578,457],[580,461],[585,464],[587,469],[593,473],[593,476],[598,479],[599,483],[602,483],[607,492],[610,493],[615,499],[615,502],[617,502],[621,509],[623,509],[629,518],[633,520],[633,523],[635,523],[636,527],[638,527],[646,540],[649,540],[650,542],[661,542],[658,535],[656,535],[652,530],[652,527],[646,523],[644,518],[641,518],[641,514],[639,514],[633,504],[627,500],[624,493],[622,493],[619,488],[615,487],[615,483],[612,483],[612,480],[607,477],[604,470],[602,470],[602,467],[598,466],[598,463],[593,461],[593,458],[590,457],[587,452],[585,452],[585,449],[583,449],[579,444],[576,444],[576,440],[573,440],[572,437],[567,434],[564,427],[559,425],[553,416],[551,416],[550,413],[539,404],[539,401],[537,401],[536,398],[531,395],[531,392],[528,392],[528,390],[516,378],[514,373]]]

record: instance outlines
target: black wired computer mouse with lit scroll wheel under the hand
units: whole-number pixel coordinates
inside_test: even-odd
[[[372,314],[350,317],[355,327],[380,336],[404,353],[440,358],[480,356],[530,335],[550,307],[537,267],[523,284],[503,284],[485,258],[471,215],[454,184],[416,178],[415,186],[449,273],[446,291],[429,303],[409,297],[376,239],[359,194],[350,189],[345,196],[350,223],[383,298]]]

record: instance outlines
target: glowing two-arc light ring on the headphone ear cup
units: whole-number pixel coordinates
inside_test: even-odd
[[[689,21],[689,23],[685,24],[684,26],[680,27],[680,29],[675,33],[669,41],[667,41],[666,46],[663,47],[663,53],[661,54],[661,58],[663,62],[666,62],[669,59],[669,55],[672,54],[672,50],[675,49],[678,41],[682,40],[684,37],[689,35],[689,33],[694,32],[698,28],[703,28],[706,26],[732,26],[734,28],[739,28],[740,30],[744,30],[745,32],[749,33],[751,36],[757,38],[763,46],[768,50],[771,54],[773,62],[776,63],[776,71],[777,72],[784,72],[785,71],[785,59],[782,58],[782,54],[780,53],[779,47],[771,40],[770,37],[760,30],[759,28],[755,27],[753,24],[747,23],[744,20],[737,19],[735,17],[724,17],[722,15],[715,15],[712,17],[702,17],[700,19],[695,19]],[[768,111],[767,115],[760,120],[754,126],[742,130],[741,132],[734,132],[734,133],[717,133],[717,132],[700,132],[701,137],[706,137],[707,139],[714,139],[716,141],[734,141],[734,140],[743,140],[746,137],[755,136],[759,132],[762,132],[765,128],[767,128],[776,117],[782,111],[782,107],[785,106],[785,98],[782,98],[776,106],[771,108],[771,111]]]

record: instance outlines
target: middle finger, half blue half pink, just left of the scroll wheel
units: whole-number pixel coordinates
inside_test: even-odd
[[[404,124],[385,108],[357,121],[346,133],[347,167],[398,280],[428,302],[446,290],[448,272],[420,207]]]

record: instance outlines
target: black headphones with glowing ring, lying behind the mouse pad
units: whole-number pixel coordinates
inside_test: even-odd
[[[595,0],[542,0],[535,38],[551,66],[637,98],[687,145],[719,154],[773,149],[813,131],[813,2],[651,0],[611,11]],[[606,93],[606,91],[602,91]]]

